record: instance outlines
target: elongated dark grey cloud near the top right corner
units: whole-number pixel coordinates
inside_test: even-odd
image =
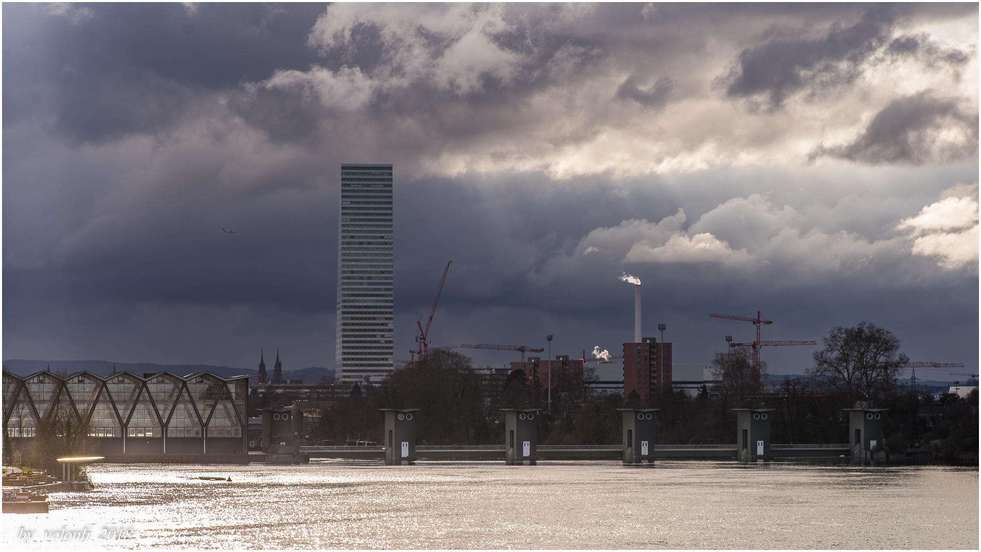
[[[866,66],[879,62],[876,58],[883,50],[893,58],[916,57],[929,66],[966,63],[966,52],[941,48],[925,34],[891,38],[895,25],[910,12],[902,5],[876,5],[856,23],[836,21],[816,38],[807,37],[806,29],[774,30],[762,44],[743,50],[717,83],[730,97],[762,96],[771,108],[778,108],[801,90],[816,94],[854,82]]]

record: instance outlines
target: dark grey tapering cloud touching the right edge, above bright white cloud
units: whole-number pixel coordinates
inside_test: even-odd
[[[837,157],[870,165],[946,163],[977,157],[978,114],[930,90],[897,98],[852,143],[816,147],[808,157]]]

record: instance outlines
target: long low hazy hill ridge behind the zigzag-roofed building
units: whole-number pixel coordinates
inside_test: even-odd
[[[169,371],[178,375],[187,375],[193,372],[207,371],[222,377],[232,377],[235,375],[257,374],[258,370],[232,368],[231,366],[215,366],[212,364],[155,364],[153,362],[112,362],[109,360],[26,360],[9,359],[4,360],[3,365],[6,369],[17,375],[30,375],[51,368],[51,371],[64,371],[67,373],[87,370],[95,375],[105,376],[115,371],[128,371],[136,375],[143,375],[149,372]],[[269,376],[273,376],[273,369],[268,369]],[[334,370],[312,366],[300,368],[298,370],[283,370],[284,379],[302,379],[306,383],[319,383],[324,376],[334,377]]]

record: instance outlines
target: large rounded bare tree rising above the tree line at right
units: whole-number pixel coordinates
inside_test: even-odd
[[[821,341],[824,349],[814,352],[814,365],[807,373],[844,393],[850,402],[871,405],[874,397],[896,385],[900,366],[909,361],[899,352],[899,338],[871,322],[837,326]]]

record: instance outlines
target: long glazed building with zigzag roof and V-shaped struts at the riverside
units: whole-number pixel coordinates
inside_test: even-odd
[[[4,370],[3,429],[17,447],[62,420],[85,428],[103,455],[245,453],[249,377]]]

